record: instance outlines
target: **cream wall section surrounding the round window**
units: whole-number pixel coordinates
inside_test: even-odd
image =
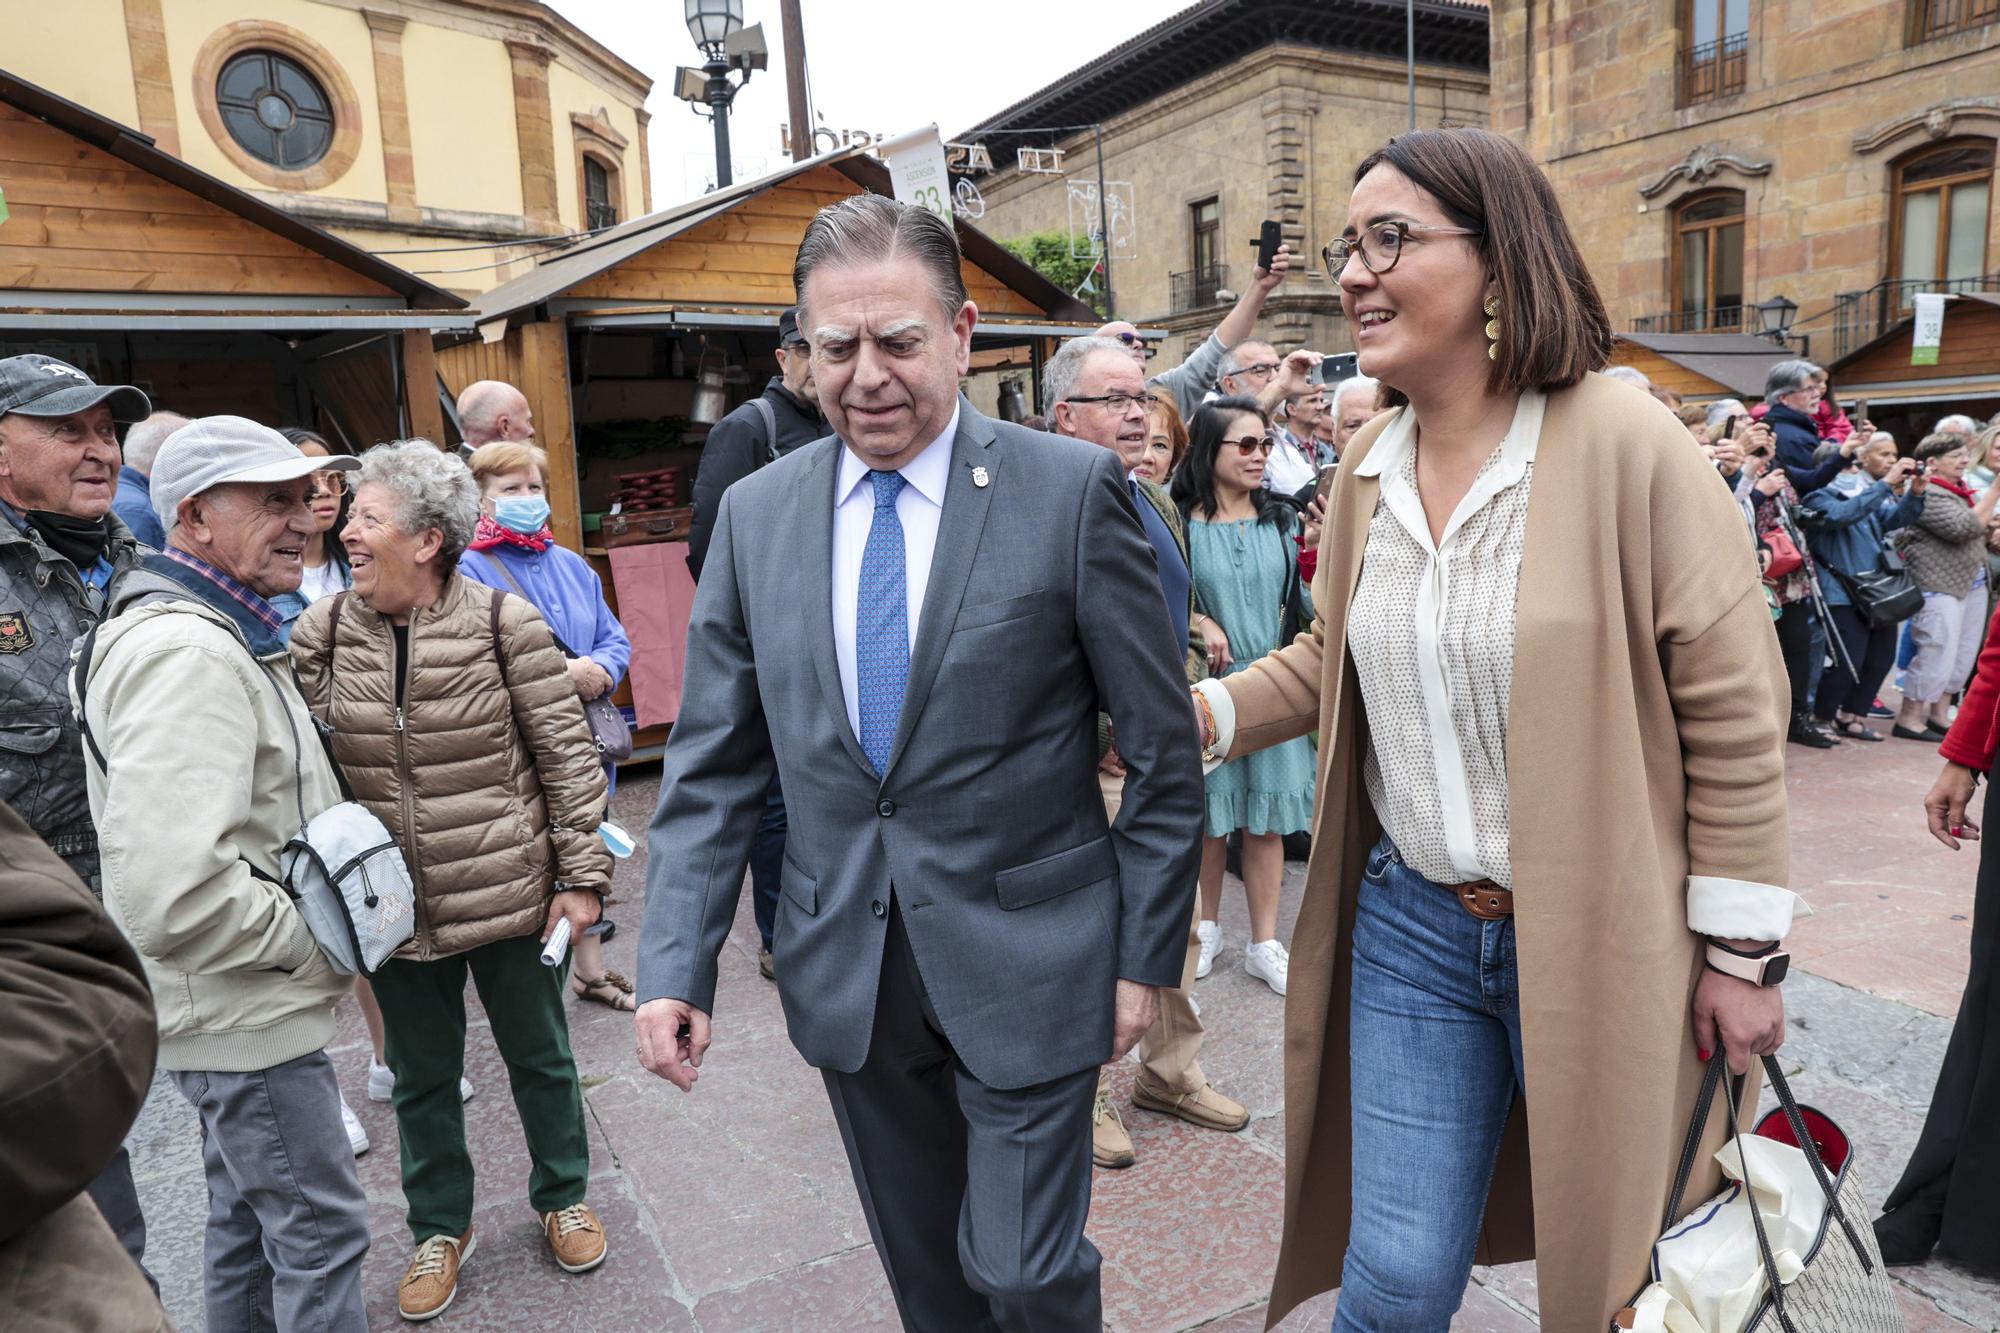
[[[362,142],[354,166],[338,180],[320,190],[300,190],[300,194],[326,194],[332,198],[386,200],[388,180],[382,174],[382,122],[376,114],[374,86],[374,46],[368,40],[368,24],[356,10],[338,10],[314,0],[260,0],[254,14],[242,0],[172,0],[166,10],[166,50],[174,62],[174,114],[180,120],[180,156],[190,166],[218,176],[246,190],[268,190],[270,186],[246,176],[216,140],[208,136],[202,114],[194,104],[194,54],[218,28],[242,18],[260,18],[288,28],[298,28],[318,42],[354,84],[360,100]],[[122,26],[120,26],[122,30]],[[332,94],[332,88],[328,88]]]

